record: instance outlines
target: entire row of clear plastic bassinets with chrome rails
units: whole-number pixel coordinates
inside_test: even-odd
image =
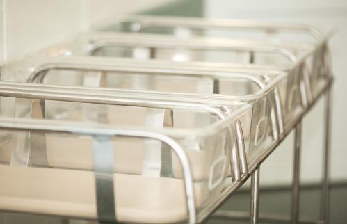
[[[1,210],[202,221],[332,81],[327,26],[107,27],[1,67]]]

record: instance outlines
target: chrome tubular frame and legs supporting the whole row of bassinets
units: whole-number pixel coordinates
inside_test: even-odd
[[[119,21],[118,21],[119,22]],[[140,31],[145,27],[155,26],[177,26],[177,24],[182,24],[185,28],[191,29],[207,29],[207,28],[217,28],[217,29],[241,29],[241,30],[261,30],[266,32],[280,32],[280,31],[298,31],[302,33],[308,33],[316,39],[314,43],[314,48],[307,49],[304,54],[296,54],[297,48],[294,45],[275,45],[266,42],[250,42],[250,41],[229,41],[225,39],[209,39],[209,38],[196,38],[193,42],[178,40],[177,38],[170,38],[168,36],[162,37],[160,35],[149,35],[149,34],[138,34],[138,33],[127,33],[127,34],[112,34],[112,33],[92,33],[87,35],[90,38],[91,49],[89,51],[90,55],[95,54],[99,49],[105,46],[140,46],[150,49],[150,58],[155,58],[156,48],[181,48],[181,49],[210,49],[210,50],[223,50],[223,51],[245,51],[250,53],[250,63],[255,62],[255,53],[257,52],[270,52],[277,53],[285,58],[289,59],[291,66],[277,67],[279,70],[292,71],[297,69],[296,72],[302,73],[302,81],[300,81],[300,90],[302,93],[302,102],[305,104],[305,111],[300,114],[293,124],[289,125],[287,130],[280,131],[282,134],[280,140],[272,145],[266,153],[264,153],[259,159],[257,159],[255,164],[248,167],[247,161],[245,160],[245,147],[243,143],[243,131],[240,122],[236,123],[236,145],[237,153],[233,154],[233,163],[237,165],[234,167],[236,182],[232,186],[228,186],[225,189],[223,195],[220,196],[216,201],[213,201],[206,209],[197,213],[197,208],[195,205],[195,195],[193,189],[193,177],[191,173],[191,167],[184,150],[178,145],[172,138],[166,136],[165,134],[157,133],[154,131],[145,131],[138,129],[113,129],[108,125],[93,125],[92,127],[72,122],[54,122],[47,120],[35,120],[26,118],[2,118],[0,117],[0,128],[3,129],[13,129],[22,131],[33,131],[33,133],[40,133],[41,131],[51,131],[51,132],[62,132],[71,134],[83,134],[90,135],[94,138],[94,165],[95,165],[95,179],[96,179],[96,195],[97,195],[97,213],[98,218],[101,223],[117,222],[115,214],[115,202],[114,197],[105,197],[104,189],[109,195],[113,195],[113,160],[112,158],[112,147],[109,139],[114,136],[136,136],[140,138],[154,138],[170,145],[171,149],[179,157],[181,167],[184,172],[184,186],[186,193],[186,205],[188,209],[188,223],[202,223],[206,221],[209,216],[216,211],[220,205],[229,198],[229,196],[238,189],[249,177],[251,177],[251,202],[250,202],[250,214],[235,211],[217,211],[213,217],[216,218],[236,218],[239,220],[248,219],[251,224],[256,224],[258,221],[282,221],[286,223],[324,223],[328,224],[329,220],[329,187],[330,187],[330,153],[331,153],[331,113],[332,113],[332,74],[330,71],[330,62],[328,62],[327,55],[328,47],[327,41],[330,35],[332,35],[332,30],[324,32],[317,29],[315,26],[306,25],[292,25],[292,24],[268,24],[268,23],[255,23],[255,22],[232,22],[224,20],[202,20],[202,19],[192,19],[192,18],[174,18],[174,17],[130,17],[128,19],[123,19],[121,22],[130,22],[136,24],[132,26],[131,31]],[[133,24],[133,25],[134,25]],[[300,45],[301,46],[301,45]],[[304,46],[304,45],[302,45]],[[301,47],[302,47],[301,46]],[[311,80],[309,74],[307,74],[307,64],[305,64],[305,59],[308,56],[314,56],[313,65],[323,64],[323,72],[326,76],[326,83],[323,87],[313,93],[312,85],[316,80]],[[68,59],[70,60],[70,59]],[[92,61],[90,61],[92,62]],[[97,63],[95,63],[96,65]],[[208,63],[207,63],[208,64]],[[33,74],[29,77],[29,82],[42,83],[47,71],[50,69],[72,69],[72,70],[101,70],[109,71],[112,70],[111,65],[101,65],[99,67],[95,65],[79,65],[78,63],[48,63],[45,66],[38,67]],[[159,64],[158,64],[159,65]],[[166,67],[155,68],[157,72],[166,71],[168,74],[172,73],[172,65],[168,63],[163,63],[161,65],[166,65]],[[154,64],[155,66],[155,64]],[[189,66],[189,65],[188,65]],[[121,66],[122,67],[122,66]],[[186,67],[187,68],[187,67]],[[271,66],[264,67],[271,68]],[[218,77],[218,72],[211,73],[206,72],[206,70],[218,70],[216,67],[207,68],[204,67],[205,72],[199,68],[198,63],[191,64],[191,72],[182,72],[188,75],[200,75],[209,77]],[[273,67],[275,69],[275,66]],[[123,71],[145,71],[153,72],[153,67],[137,67],[131,69],[130,66],[123,66]],[[316,74],[321,72],[321,67],[312,67],[312,73]],[[197,72],[198,71],[198,72]],[[177,70],[179,72],[179,70]],[[175,70],[176,73],[176,70]],[[218,93],[218,83],[213,88],[215,93]],[[37,85],[33,84],[15,84],[15,83],[0,83],[0,95],[8,97],[19,97],[30,99],[51,99],[51,100],[62,100],[70,102],[95,102],[98,104],[123,104],[123,105],[151,105],[151,106],[163,106],[165,105],[169,109],[179,108],[181,106],[188,106],[191,109],[203,109],[211,113],[215,113],[224,118],[223,111],[213,107],[205,106],[199,103],[186,103],[186,102],[171,102],[166,104],[161,101],[161,99],[150,98],[137,99],[131,97],[119,97],[119,95],[113,94],[113,90],[99,89],[93,90],[92,88],[62,88],[49,86],[42,89],[37,88]],[[46,85],[47,86],[47,85]],[[53,89],[56,88],[56,89]],[[90,93],[90,90],[93,92]],[[97,93],[97,95],[95,95]],[[119,91],[118,93],[126,93],[126,91]],[[130,93],[130,92],[129,92]],[[138,92],[140,93],[140,92]],[[301,151],[301,129],[302,129],[302,118],[308,113],[308,111],[316,104],[318,99],[322,95],[325,95],[325,133],[324,133],[324,157],[323,157],[323,179],[322,179],[322,198],[321,198],[321,217],[320,220],[315,220],[313,218],[304,218],[299,214],[300,207],[300,151]],[[168,97],[168,95],[163,94],[163,96]],[[191,95],[192,96],[192,95]],[[149,97],[153,97],[150,95]],[[158,97],[158,95],[156,95]],[[276,96],[278,98],[278,93]],[[160,98],[160,97],[159,97]],[[223,98],[223,96],[222,96]],[[212,97],[212,99],[214,99]],[[147,100],[147,101],[146,101]],[[40,104],[40,109],[42,115],[44,113],[44,104]],[[280,111],[280,106],[277,105],[277,109]],[[277,116],[277,122],[282,122],[282,116]],[[283,127],[282,127],[283,128]],[[280,129],[280,128],[279,128]],[[289,216],[284,215],[274,215],[274,214],[259,214],[259,173],[261,163],[268,157],[275,147],[280,144],[284,138],[289,134],[291,129],[295,129],[295,143],[294,143],[294,166],[293,166],[293,186],[291,194],[291,214]],[[240,158],[237,158],[239,156]],[[237,159],[236,159],[237,158]],[[240,163],[240,164],[239,164]],[[240,171],[241,170],[241,171]],[[241,175],[240,175],[241,173]]]

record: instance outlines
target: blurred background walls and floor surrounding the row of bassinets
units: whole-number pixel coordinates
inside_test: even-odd
[[[0,61],[20,58],[81,31],[129,13],[180,15],[271,22],[328,23],[337,27],[330,41],[335,76],[332,123],[331,223],[347,221],[347,1],[234,0],[1,0]],[[345,71],[346,70],[346,71]],[[302,126],[302,215],[318,216],[323,161],[323,100]],[[261,211],[289,213],[293,170],[293,134],[261,166]],[[226,208],[248,211],[248,191],[240,189]],[[37,223],[31,217],[26,223]],[[36,217],[37,218],[37,217]],[[40,220],[42,222],[42,220]],[[54,219],[47,218],[47,223]],[[78,222],[78,221],[75,221]],[[211,220],[209,223],[223,223]],[[0,215],[0,223],[22,223],[18,216]],[[226,222],[225,222],[226,223]],[[236,222],[237,223],[237,222]]]

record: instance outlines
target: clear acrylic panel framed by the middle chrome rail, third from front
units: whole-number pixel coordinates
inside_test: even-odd
[[[234,74],[234,75],[233,75]],[[39,76],[38,76],[39,77]],[[36,81],[36,80],[35,80]],[[145,72],[104,72],[89,70],[48,70],[43,83],[64,86],[102,86],[130,90],[153,90],[173,93],[250,95],[261,90],[250,77],[230,72],[229,77]]]

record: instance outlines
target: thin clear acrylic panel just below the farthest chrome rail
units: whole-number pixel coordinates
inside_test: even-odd
[[[107,31],[107,30],[106,30]],[[140,24],[140,22],[123,22],[122,31],[175,35],[177,38],[188,38],[189,36],[201,35],[213,38],[234,38],[261,40],[271,42],[316,42],[317,39],[309,31],[278,31],[275,29],[242,29],[242,28],[208,28],[192,29],[181,26],[151,26]]]

